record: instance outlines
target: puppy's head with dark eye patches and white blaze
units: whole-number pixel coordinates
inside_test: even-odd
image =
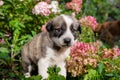
[[[46,26],[51,40],[59,47],[69,47],[77,41],[81,33],[79,22],[71,16],[60,15]]]

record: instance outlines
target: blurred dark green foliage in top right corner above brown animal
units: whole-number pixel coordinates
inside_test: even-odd
[[[116,5],[120,4],[120,1],[111,1],[112,0],[83,0],[82,17],[88,15],[94,16],[99,23],[107,20],[119,20],[120,10],[116,8]]]

